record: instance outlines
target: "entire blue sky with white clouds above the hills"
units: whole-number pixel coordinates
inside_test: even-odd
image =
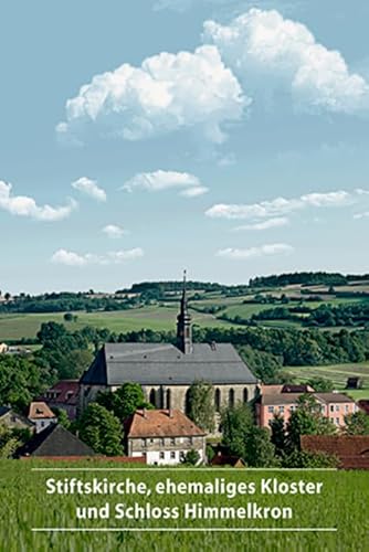
[[[369,272],[368,17],[3,2],[2,293]]]

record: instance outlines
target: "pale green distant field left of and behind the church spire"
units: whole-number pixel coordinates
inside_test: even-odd
[[[9,339],[34,338],[42,322],[53,320],[64,323],[68,329],[81,329],[84,326],[107,328],[117,333],[140,330],[175,330],[178,315],[178,305],[171,307],[141,307],[130,310],[113,312],[75,312],[76,322],[65,322],[63,312],[48,312],[42,315],[0,315],[0,342]],[[193,323],[202,327],[230,326],[230,322],[218,320],[212,315],[191,311]]]

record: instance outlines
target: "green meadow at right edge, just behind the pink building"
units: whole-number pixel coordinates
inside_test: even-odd
[[[362,362],[359,364],[331,364],[327,367],[286,367],[284,371],[297,378],[301,382],[305,382],[310,378],[321,376],[331,380],[338,390],[344,390],[347,378],[361,378],[363,389],[359,391],[350,391],[349,394],[354,399],[369,399],[369,363]]]

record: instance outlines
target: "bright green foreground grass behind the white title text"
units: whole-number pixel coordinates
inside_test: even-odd
[[[64,466],[63,466],[64,465]],[[75,471],[65,471],[71,465]],[[91,471],[83,471],[88,466]],[[46,467],[48,471],[32,471],[32,467]],[[114,467],[116,471],[107,471]],[[56,471],[55,468],[59,470]],[[99,471],[96,471],[98,468]],[[0,461],[0,549],[18,551],[75,551],[94,552],[104,550],[136,552],[178,551],[243,551],[266,552],[327,551],[363,552],[368,550],[369,473],[367,471],[252,471],[247,469],[150,469],[140,471],[117,471],[117,464],[89,461],[88,464],[35,463],[34,460]],[[99,480],[144,482],[150,489],[148,496],[138,495],[51,495],[46,493],[49,478],[77,478],[82,482],[94,477]],[[254,482],[254,495],[187,492],[165,495],[157,491],[156,485],[170,479],[175,484],[188,485],[191,481],[213,484],[224,479],[226,485]],[[292,481],[323,482],[319,495],[263,495],[260,492],[262,479],[276,478],[280,482]],[[115,506],[125,507],[135,502],[146,508],[178,508],[178,519],[127,519],[115,518]],[[243,507],[254,502],[260,507],[291,508],[292,519],[184,519],[186,502],[201,503],[203,507]],[[77,519],[76,507],[101,508],[108,505],[106,519]],[[32,528],[94,529],[95,532],[32,532]],[[106,532],[102,529],[116,529]],[[161,528],[167,528],[162,531]],[[318,531],[317,528],[329,531]],[[136,529],[137,532],[129,532]],[[186,532],[180,531],[184,529]],[[204,529],[204,531],[202,531]],[[211,532],[210,529],[218,529]],[[246,529],[247,531],[230,531]],[[254,530],[257,531],[254,531]],[[265,531],[265,529],[272,531]],[[282,529],[282,531],[281,531]],[[308,531],[296,531],[308,529]],[[313,529],[313,530],[312,530]],[[154,530],[154,531],[151,531]],[[201,532],[196,532],[201,530]],[[225,531],[224,531],[225,530]],[[228,530],[228,531],[226,531]],[[276,531],[280,530],[280,531]],[[334,531],[333,531],[334,530]]]

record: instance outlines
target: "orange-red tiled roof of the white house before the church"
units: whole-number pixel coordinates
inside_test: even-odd
[[[196,437],[205,435],[178,410],[136,411],[128,422],[127,437]]]

